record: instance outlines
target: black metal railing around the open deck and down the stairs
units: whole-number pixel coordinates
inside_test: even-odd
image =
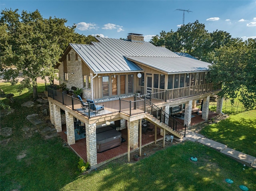
[[[48,87],[48,96],[69,106],[72,110],[80,112],[88,118],[115,112],[123,112],[130,116],[148,112],[173,130],[183,134],[184,136],[186,135],[186,126],[178,122],[175,118],[164,112],[162,108],[158,108],[153,102],[147,99],[147,97],[150,98],[151,95],[144,95],[143,98],[141,96],[137,96],[138,98],[135,96],[134,101],[118,98],[116,100],[88,103],[86,100],[81,101],[73,96]],[[97,109],[98,107],[100,109]]]

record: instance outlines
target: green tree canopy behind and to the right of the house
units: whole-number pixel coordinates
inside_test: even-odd
[[[256,106],[256,39],[232,38],[230,33],[209,33],[198,21],[181,26],[176,32],[160,32],[151,43],[165,45],[175,52],[186,52],[209,63],[208,78],[222,85],[220,96],[239,100],[248,109]]]

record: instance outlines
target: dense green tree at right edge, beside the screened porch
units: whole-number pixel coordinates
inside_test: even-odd
[[[222,85],[218,95],[230,98],[232,102],[239,97],[247,109],[252,109],[256,106],[256,40],[232,39],[215,51],[209,79]]]

